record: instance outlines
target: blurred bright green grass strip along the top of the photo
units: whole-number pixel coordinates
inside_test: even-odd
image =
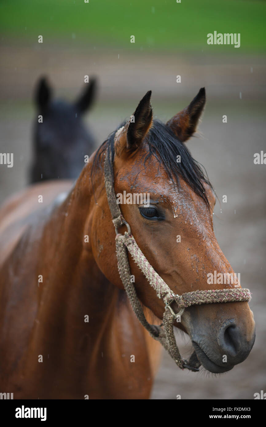
[[[94,44],[139,50],[265,51],[266,2],[257,0],[2,0],[2,43]],[[213,31],[241,34],[241,46],[207,45]],[[135,43],[130,43],[130,36]]]

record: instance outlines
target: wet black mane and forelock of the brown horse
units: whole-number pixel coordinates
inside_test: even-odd
[[[118,126],[96,151],[91,169],[92,178],[94,170],[98,167],[102,167],[102,160],[104,157],[102,154],[106,149],[108,154],[111,152],[111,161],[114,161],[114,135],[117,130],[125,124],[126,122]],[[149,152],[144,158],[144,167],[149,161],[149,158],[155,156],[158,163],[162,165],[164,170],[167,172],[168,177],[174,184],[180,186],[179,177],[183,178],[194,192],[206,202],[208,208],[210,208],[208,198],[205,194],[205,188],[202,184],[202,181],[204,181],[213,188],[210,184],[206,171],[205,176],[201,169],[202,165],[193,159],[189,149],[187,149],[187,147],[178,140],[167,125],[159,120],[153,120],[152,126],[143,142],[147,143],[149,147]],[[176,161],[177,155],[181,156],[180,163],[177,163]]]

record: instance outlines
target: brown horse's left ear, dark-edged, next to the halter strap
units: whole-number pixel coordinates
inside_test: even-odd
[[[144,95],[128,122],[126,134],[128,149],[137,148],[152,125],[151,95],[152,91],[148,91]]]

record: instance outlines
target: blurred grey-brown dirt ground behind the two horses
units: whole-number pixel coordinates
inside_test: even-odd
[[[119,58],[118,58],[118,55]],[[14,153],[14,167],[0,165],[0,201],[26,185],[31,158],[32,88],[47,75],[57,94],[73,99],[85,74],[99,76],[99,97],[86,120],[99,143],[129,117],[147,90],[153,90],[154,113],[165,120],[184,108],[205,86],[207,106],[198,137],[188,142],[203,164],[221,201],[216,202],[214,229],[225,257],[250,288],[256,341],[248,359],[228,373],[181,371],[164,354],[152,399],[253,399],[266,392],[266,165],[255,165],[254,153],[265,145],[265,61],[255,57],[181,58],[145,53],[74,52],[66,48],[2,47],[0,68],[1,152]],[[89,59],[88,59],[89,58]],[[181,84],[175,76],[181,75]],[[227,123],[222,116],[227,115]],[[222,203],[227,195],[228,202]],[[181,353],[188,338],[178,337]]]

